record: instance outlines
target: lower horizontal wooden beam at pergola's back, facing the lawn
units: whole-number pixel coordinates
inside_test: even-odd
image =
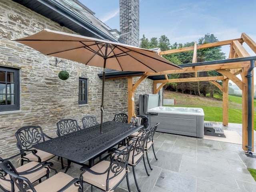
[[[181,83],[181,82],[197,82],[197,81],[217,81],[224,80],[223,76],[210,76],[210,77],[192,77],[192,78],[180,78],[180,79],[168,79],[168,80],[155,80],[153,83]]]

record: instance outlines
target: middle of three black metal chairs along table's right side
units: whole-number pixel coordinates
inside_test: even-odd
[[[139,188],[139,185],[138,185],[138,182],[137,182],[137,179],[136,179],[136,174],[135,174],[135,166],[142,159],[143,159],[143,163],[144,163],[144,167],[145,167],[147,175],[150,176],[150,174],[148,173],[148,169],[147,169],[146,161],[145,161],[145,157],[144,157],[144,146],[146,144],[146,139],[148,138],[149,131],[139,130],[139,132],[140,132],[140,136],[138,136],[137,138],[128,137],[127,138],[127,143],[130,144],[131,142],[135,142],[135,144],[132,146],[132,152],[131,152],[132,164],[130,164],[128,162],[128,165],[132,166],[132,172],[133,172],[135,184],[136,184],[136,187],[137,187],[138,191],[140,192],[140,188]],[[141,154],[142,154],[142,156],[135,162],[134,161],[135,157],[138,156],[138,155],[141,155]]]

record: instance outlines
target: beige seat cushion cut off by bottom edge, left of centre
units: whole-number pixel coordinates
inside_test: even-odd
[[[36,192],[56,192],[64,187],[73,178],[68,174],[59,172],[56,175],[48,178],[44,182],[35,186]],[[78,192],[78,187],[74,184],[70,186],[65,192]]]

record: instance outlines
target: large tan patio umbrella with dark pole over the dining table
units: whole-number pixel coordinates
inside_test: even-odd
[[[30,46],[44,55],[103,68],[100,132],[104,112],[105,68],[143,72],[180,69],[152,50],[48,29],[15,41]]]

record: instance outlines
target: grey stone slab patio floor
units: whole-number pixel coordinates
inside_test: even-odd
[[[222,128],[241,135],[241,124],[230,123]],[[150,176],[146,175],[143,162],[136,166],[142,192],[256,192],[256,181],[247,170],[247,167],[256,169],[256,158],[247,157],[241,144],[160,132],[156,132],[154,142],[158,160],[150,151],[153,168],[152,171],[148,168]],[[51,161],[54,168],[64,171],[57,158]],[[72,163],[68,174],[79,177],[80,165]],[[132,191],[136,192],[132,168],[129,180]],[[90,192],[90,185],[84,184],[84,191]],[[126,180],[114,191],[128,191]]]

